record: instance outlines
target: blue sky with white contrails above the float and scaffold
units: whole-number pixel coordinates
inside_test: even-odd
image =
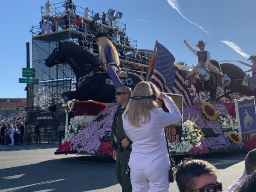
[[[41,20],[41,5],[47,0],[1,1],[0,98],[26,98],[18,83],[22,67],[26,67],[26,42],[32,49],[31,26]],[[60,3],[50,0],[50,3]],[[153,49],[158,40],[175,56],[176,61],[197,64],[197,58],[183,40],[197,49],[199,40],[207,41],[206,50],[212,59],[247,61],[256,55],[255,0],[74,0],[94,12],[120,11],[126,34],[137,39],[138,49]],[[53,6],[54,7],[54,6]],[[32,58],[32,55],[30,55]],[[237,64],[237,62],[232,62]],[[31,62],[32,66],[32,62]],[[239,66],[243,70],[248,67]]]

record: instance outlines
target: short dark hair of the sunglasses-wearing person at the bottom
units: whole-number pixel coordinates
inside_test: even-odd
[[[181,161],[175,173],[175,180],[180,192],[192,189],[195,177],[203,174],[217,175],[217,168],[204,160],[188,158]]]

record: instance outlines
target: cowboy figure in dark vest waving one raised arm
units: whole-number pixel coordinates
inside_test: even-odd
[[[196,51],[192,49],[192,47],[190,47],[190,45],[187,43],[186,39],[184,40],[184,44],[186,45],[186,47],[189,48],[189,50],[192,53],[198,56],[198,64],[193,68],[192,72],[189,73],[189,76],[188,76],[189,84],[192,83],[192,79],[195,76],[195,72],[198,67],[208,67],[208,69],[215,74],[218,83],[223,85],[222,81],[225,82],[225,78],[223,74],[215,66],[213,66],[210,63],[210,60],[211,60],[210,53],[204,50],[204,47],[207,43],[204,44],[204,41],[198,41],[198,44],[196,44],[195,46],[198,47],[200,51]]]

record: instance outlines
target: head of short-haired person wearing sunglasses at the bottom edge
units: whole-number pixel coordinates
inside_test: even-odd
[[[204,160],[188,158],[182,161],[175,173],[180,192],[221,192],[222,184],[217,168]]]

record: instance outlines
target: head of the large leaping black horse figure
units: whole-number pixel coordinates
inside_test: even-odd
[[[58,42],[58,47],[53,49],[52,53],[45,60],[47,67],[53,67],[56,64],[64,63],[67,61],[66,50],[62,48],[61,41]]]

